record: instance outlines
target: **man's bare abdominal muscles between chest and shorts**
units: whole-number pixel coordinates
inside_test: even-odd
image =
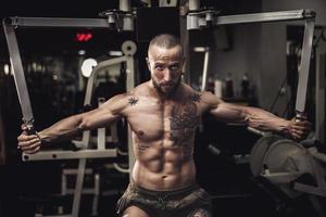
[[[183,159],[183,148],[162,145],[162,142],[142,144],[142,148],[140,145],[135,144],[136,162],[133,168],[133,181],[137,186],[149,190],[171,191],[195,182],[193,158]]]

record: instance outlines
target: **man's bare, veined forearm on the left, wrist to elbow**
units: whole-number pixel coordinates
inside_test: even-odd
[[[64,118],[38,132],[45,143],[64,141],[74,138],[84,130],[82,115]]]

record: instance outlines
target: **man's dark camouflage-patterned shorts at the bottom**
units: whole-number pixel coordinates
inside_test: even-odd
[[[199,208],[211,212],[212,203],[211,195],[197,184],[175,191],[152,191],[129,183],[117,202],[116,213],[122,216],[131,205],[151,217],[188,217]]]

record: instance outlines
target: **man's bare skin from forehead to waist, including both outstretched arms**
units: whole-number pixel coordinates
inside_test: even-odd
[[[225,103],[211,92],[193,90],[181,81],[184,59],[179,46],[151,47],[147,63],[151,72],[149,81],[113,97],[97,110],[62,119],[38,136],[23,132],[18,146],[26,153],[35,153],[40,141],[46,144],[71,139],[82,130],[108,126],[124,117],[133,130],[135,183],[164,191],[195,182],[195,132],[205,112],[217,120],[243,123],[294,139],[303,138],[310,129],[306,120],[287,120],[261,108]]]

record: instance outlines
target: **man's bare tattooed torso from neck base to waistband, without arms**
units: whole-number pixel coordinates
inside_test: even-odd
[[[123,115],[133,130],[133,179],[140,187],[174,190],[195,182],[195,132],[206,107],[190,87],[181,85],[178,92],[162,100],[145,82],[127,97]]]

